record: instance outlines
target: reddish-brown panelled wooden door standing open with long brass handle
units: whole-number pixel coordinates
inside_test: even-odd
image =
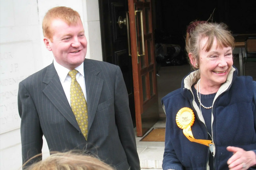
[[[158,120],[151,0],[128,0],[137,136]]]

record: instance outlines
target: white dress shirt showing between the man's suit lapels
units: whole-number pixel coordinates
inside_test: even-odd
[[[63,87],[63,90],[67,96],[67,99],[70,104],[70,86],[71,86],[71,77],[68,75],[69,74],[69,69],[66,67],[63,67],[59,63],[56,62],[56,60],[53,60],[53,65],[57,71],[57,74],[59,76],[59,80],[61,82],[61,85]],[[83,70],[83,63],[79,65],[78,67],[75,68],[78,72],[76,74],[76,80],[80,84],[82,88],[82,92],[84,95],[84,98],[87,101],[87,96],[86,96],[86,81],[84,80],[84,70]]]

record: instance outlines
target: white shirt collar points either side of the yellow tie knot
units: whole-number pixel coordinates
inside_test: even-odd
[[[66,67],[63,67],[55,59],[53,59],[53,65],[57,71],[57,74],[59,76],[59,79],[61,82],[64,82],[66,77],[69,74],[69,69]],[[75,68],[83,77],[84,77],[84,71],[83,71],[83,63],[81,63],[78,67]]]

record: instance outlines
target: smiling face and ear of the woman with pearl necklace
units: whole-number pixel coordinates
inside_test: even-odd
[[[198,63],[201,77],[201,93],[211,94],[218,91],[221,84],[227,80],[227,75],[232,68],[232,48],[221,47],[218,45],[217,39],[209,51],[206,51],[206,43],[208,38],[202,39],[199,59],[197,60],[192,53],[189,53],[191,64]]]

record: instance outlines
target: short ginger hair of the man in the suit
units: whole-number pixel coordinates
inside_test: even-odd
[[[81,20],[79,13],[71,8],[55,7],[50,9],[42,20],[42,32],[49,39],[52,39],[53,36],[51,24],[54,19],[61,19],[69,26],[76,24],[79,19]]]

